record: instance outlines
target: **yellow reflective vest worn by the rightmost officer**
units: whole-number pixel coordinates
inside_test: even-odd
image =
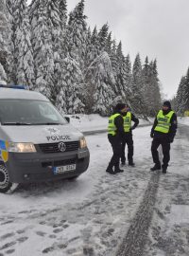
[[[168,134],[173,114],[174,111],[170,111],[167,115],[163,116],[163,110],[160,110],[157,116],[158,124],[154,130],[163,134]]]

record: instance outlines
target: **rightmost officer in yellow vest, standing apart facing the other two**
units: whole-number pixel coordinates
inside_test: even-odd
[[[171,109],[169,101],[163,102],[163,109],[159,111],[154,120],[151,129],[151,137],[153,137],[151,144],[151,153],[153,162],[155,163],[151,171],[161,170],[161,162],[158,154],[158,147],[162,145],[163,148],[163,174],[166,174],[168,162],[170,160],[170,143],[173,142],[177,132],[177,115]]]

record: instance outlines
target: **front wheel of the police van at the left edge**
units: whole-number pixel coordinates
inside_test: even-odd
[[[0,164],[0,192],[12,193],[18,188],[18,183],[9,181],[9,172],[5,165]]]

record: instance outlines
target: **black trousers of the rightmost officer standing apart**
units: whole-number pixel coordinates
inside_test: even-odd
[[[154,137],[151,144],[151,154],[153,162],[160,164],[158,148],[162,145],[163,148],[163,166],[167,167],[170,160],[170,142],[168,137]]]

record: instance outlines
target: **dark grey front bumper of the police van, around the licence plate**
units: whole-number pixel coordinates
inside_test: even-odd
[[[67,153],[9,153],[6,167],[14,183],[42,182],[71,178],[84,173],[89,166],[89,150]],[[54,167],[76,164],[76,170],[54,174]]]

